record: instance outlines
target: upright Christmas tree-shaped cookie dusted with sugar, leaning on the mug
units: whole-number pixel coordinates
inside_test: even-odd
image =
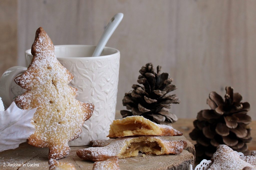
[[[54,45],[41,27],[31,48],[33,59],[15,82],[27,91],[15,99],[22,109],[37,111],[32,124],[36,131],[27,142],[35,147],[49,147],[48,158],[61,159],[69,154],[68,141],[78,138],[84,121],[94,105],[76,100],[78,90],[68,85],[73,75],[54,53]]]

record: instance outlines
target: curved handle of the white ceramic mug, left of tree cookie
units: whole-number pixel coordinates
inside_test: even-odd
[[[12,102],[11,86],[15,77],[19,74],[24,73],[27,70],[26,67],[14,66],[5,70],[4,74],[0,79],[0,97],[6,107],[9,107]]]

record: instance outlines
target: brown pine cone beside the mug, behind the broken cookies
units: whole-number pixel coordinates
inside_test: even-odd
[[[152,63],[147,63],[139,71],[137,82],[132,85],[133,90],[125,93],[123,105],[127,110],[121,110],[123,117],[140,115],[158,124],[170,125],[178,120],[177,116],[170,113],[172,103],[179,103],[176,95],[167,95],[176,88],[171,84],[173,79],[168,78],[168,73],[160,73],[161,66],[157,66],[157,73]]]

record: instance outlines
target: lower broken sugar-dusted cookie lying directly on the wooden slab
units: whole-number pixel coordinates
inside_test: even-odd
[[[92,141],[91,144],[95,147],[78,150],[77,155],[84,160],[102,161],[112,156],[118,156],[119,159],[130,158],[137,156],[139,151],[155,155],[179,154],[187,146],[187,142],[183,140],[164,140],[156,136],[123,137],[102,141]]]

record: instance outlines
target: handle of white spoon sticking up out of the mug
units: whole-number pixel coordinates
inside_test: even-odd
[[[100,37],[100,41],[95,48],[92,57],[98,57],[100,56],[103,48],[105,47],[106,43],[109,41],[109,38],[115,31],[116,27],[119,25],[119,23],[122,21],[124,14],[118,13],[114,15],[113,18],[109,21],[107,27],[105,28],[103,34]]]

